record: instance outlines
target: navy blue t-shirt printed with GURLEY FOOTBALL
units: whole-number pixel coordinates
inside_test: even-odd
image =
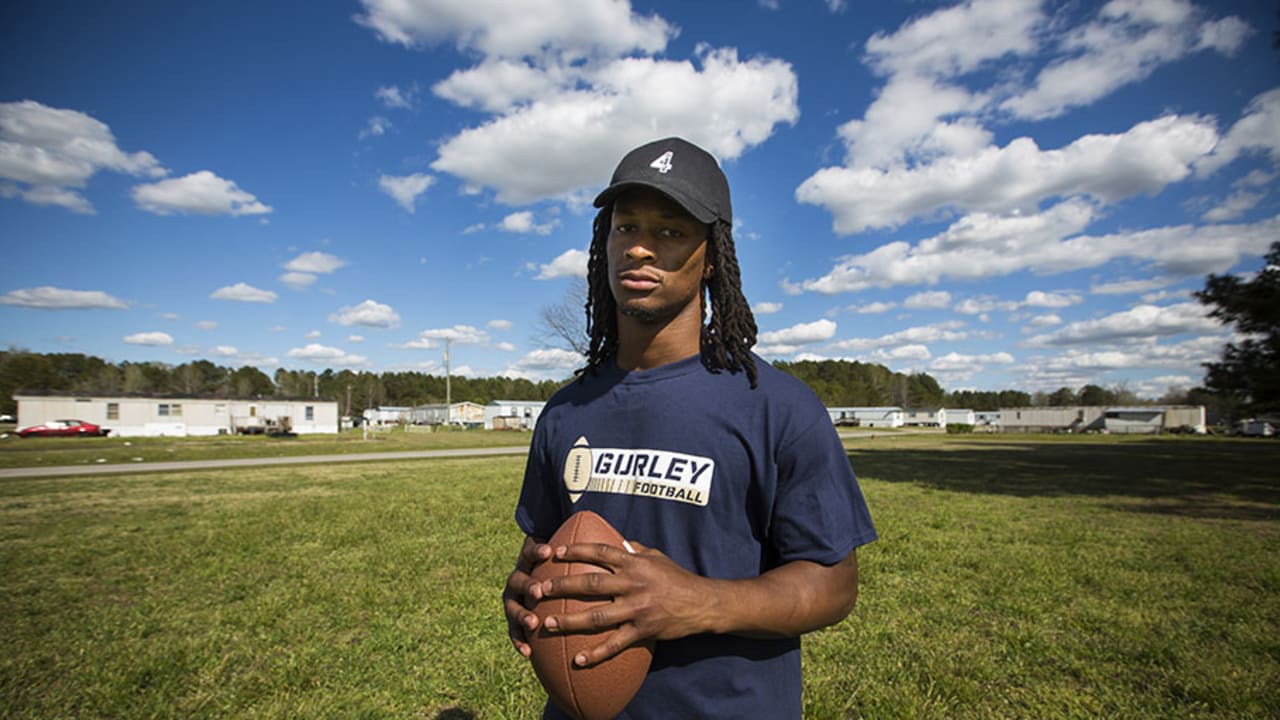
[[[808,386],[755,359],[713,373],[699,356],[652,370],[612,363],[547,404],[516,507],[547,539],[593,510],[627,539],[703,577],[794,560],[833,565],[876,539],[849,457]],[[800,717],[800,639],[692,635],[654,648],[621,717]],[[548,702],[544,717],[563,717]]]

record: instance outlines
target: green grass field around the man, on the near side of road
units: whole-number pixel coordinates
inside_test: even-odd
[[[847,447],[881,539],[806,717],[1280,716],[1280,443]],[[4,480],[0,716],[538,717],[522,466]]]

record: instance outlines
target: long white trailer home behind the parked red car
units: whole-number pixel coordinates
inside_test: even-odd
[[[317,398],[228,400],[178,395],[14,393],[18,425],[74,418],[115,437],[216,436],[268,429],[337,433],[338,402]]]

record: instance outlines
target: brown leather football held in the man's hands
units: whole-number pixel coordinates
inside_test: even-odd
[[[603,542],[625,548],[623,538],[613,525],[590,510],[570,515],[568,520],[564,520],[564,524],[548,541],[553,547],[580,542]],[[563,575],[608,571],[605,568],[589,562],[547,560],[534,568],[532,577],[535,580],[543,582]],[[552,597],[535,603],[532,611],[545,620],[550,615],[582,612],[608,602],[613,601]],[[653,660],[652,643],[631,646],[594,667],[576,667],[573,665],[573,656],[600,644],[614,630],[549,633],[539,628],[530,638],[531,660],[538,680],[547,689],[547,694],[556,701],[556,705],[579,720],[616,717],[631,702],[649,673],[649,662]]]

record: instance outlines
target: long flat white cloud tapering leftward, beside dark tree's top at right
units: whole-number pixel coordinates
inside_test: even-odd
[[[1198,302],[1169,306],[1138,305],[1094,320],[1071,323],[1053,333],[1036,336],[1027,341],[1032,347],[1083,345],[1097,342],[1129,342],[1138,338],[1167,337],[1184,333],[1211,334],[1221,331],[1221,324],[1206,316]]]

